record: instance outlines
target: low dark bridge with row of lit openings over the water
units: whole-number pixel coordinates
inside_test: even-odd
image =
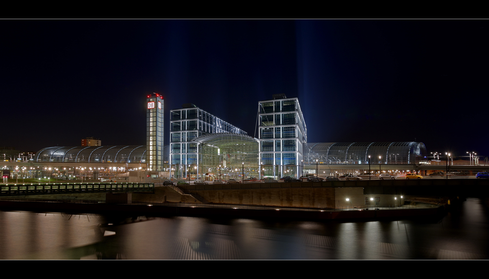
[[[0,196],[69,193],[155,193],[154,183],[0,184]]]

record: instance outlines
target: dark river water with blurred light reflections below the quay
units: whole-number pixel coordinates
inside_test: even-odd
[[[0,259],[488,259],[489,216],[273,221],[0,212]]]

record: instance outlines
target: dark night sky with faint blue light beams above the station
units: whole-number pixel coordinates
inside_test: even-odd
[[[489,21],[2,20],[0,147],[144,145],[146,94],[255,134],[298,97],[308,142],[489,155]],[[256,135],[258,137],[258,135]]]

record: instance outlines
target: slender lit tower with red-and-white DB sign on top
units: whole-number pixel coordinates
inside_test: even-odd
[[[163,96],[147,96],[146,109],[146,170],[163,171]]]

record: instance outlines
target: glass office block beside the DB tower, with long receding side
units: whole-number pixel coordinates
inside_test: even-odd
[[[247,135],[242,129],[193,104],[182,107],[170,110],[170,164],[174,165],[172,168],[176,168],[180,177],[187,177],[189,171],[185,166],[202,164],[200,143],[195,139],[217,133]]]

